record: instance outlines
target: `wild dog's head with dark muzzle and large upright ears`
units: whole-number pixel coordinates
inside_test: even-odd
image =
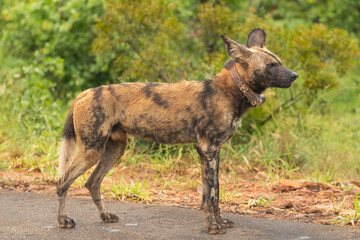
[[[282,65],[279,57],[265,47],[263,29],[254,29],[248,36],[247,46],[221,35],[229,56],[248,79],[249,84],[260,89],[268,87],[288,88],[298,78],[296,72]]]

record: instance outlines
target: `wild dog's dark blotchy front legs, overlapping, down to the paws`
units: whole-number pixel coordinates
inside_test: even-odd
[[[234,226],[234,223],[220,216],[219,207],[219,147],[196,147],[201,160],[203,202],[202,208],[205,213],[205,224],[210,234],[223,234],[226,228]]]

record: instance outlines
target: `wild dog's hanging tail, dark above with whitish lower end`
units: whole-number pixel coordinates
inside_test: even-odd
[[[66,118],[63,134],[61,137],[59,169],[58,169],[61,175],[60,182],[62,182],[66,178],[65,174],[71,165],[75,146],[76,146],[76,134],[74,128],[74,115],[73,115],[73,106],[72,106]]]

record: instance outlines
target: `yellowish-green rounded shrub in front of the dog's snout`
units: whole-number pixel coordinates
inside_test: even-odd
[[[356,40],[346,31],[323,24],[300,26],[290,34],[287,46],[289,63],[303,74],[302,91],[308,100],[318,91],[336,86],[360,56]]]

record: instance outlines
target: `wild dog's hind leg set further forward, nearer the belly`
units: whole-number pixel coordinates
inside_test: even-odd
[[[105,175],[124,154],[126,144],[126,133],[119,128],[113,129],[111,138],[106,144],[105,153],[100,158],[99,164],[85,184],[99,210],[100,218],[106,223],[117,222],[119,218],[115,214],[106,211],[104,203],[101,200],[100,185]]]

